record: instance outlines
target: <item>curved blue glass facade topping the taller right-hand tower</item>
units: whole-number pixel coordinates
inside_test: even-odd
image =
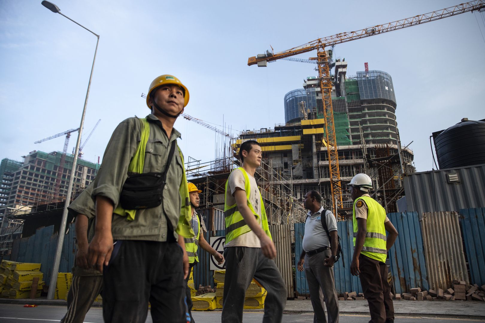
[[[396,103],[392,77],[383,71],[357,72],[361,100],[387,99]]]

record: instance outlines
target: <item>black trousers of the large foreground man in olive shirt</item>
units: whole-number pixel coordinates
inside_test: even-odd
[[[177,243],[118,240],[103,270],[105,323],[187,323],[183,251]]]

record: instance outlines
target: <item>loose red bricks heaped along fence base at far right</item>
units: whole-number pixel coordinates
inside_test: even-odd
[[[432,301],[437,299],[443,299],[446,301],[454,300],[467,300],[467,301],[485,301],[485,285],[481,287],[477,284],[467,285],[463,280],[453,280],[453,288],[449,288],[446,291],[442,289],[421,291],[418,288],[411,288],[410,293],[396,294],[396,300],[401,299],[401,296],[405,300],[410,301]]]

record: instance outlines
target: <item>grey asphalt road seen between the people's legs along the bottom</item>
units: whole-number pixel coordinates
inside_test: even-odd
[[[59,322],[64,316],[65,307],[61,306],[39,306],[36,308],[24,308],[22,305],[0,304],[0,322],[1,323],[47,323]],[[194,312],[194,320],[197,323],[218,323],[221,322],[221,312]],[[244,312],[244,323],[260,323],[262,321],[262,312]],[[425,319],[425,321],[423,321]],[[370,316],[367,315],[350,315],[341,314],[340,321],[346,323],[367,323]],[[284,314],[284,323],[312,322],[313,313],[304,314]],[[91,308],[84,319],[85,323],[102,323],[102,309]],[[148,313],[147,323],[151,323],[150,313]],[[455,322],[485,322],[484,320],[465,319],[465,318],[443,318],[443,317],[396,317],[399,323],[455,323]]]

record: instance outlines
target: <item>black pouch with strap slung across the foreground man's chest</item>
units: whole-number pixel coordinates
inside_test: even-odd
[[[130,175],[120,193],[120,204],[125,210],[149,209],[162,204],[168,168],[175,152],[175,140],[172,142],[163,173],[143,173]]]

